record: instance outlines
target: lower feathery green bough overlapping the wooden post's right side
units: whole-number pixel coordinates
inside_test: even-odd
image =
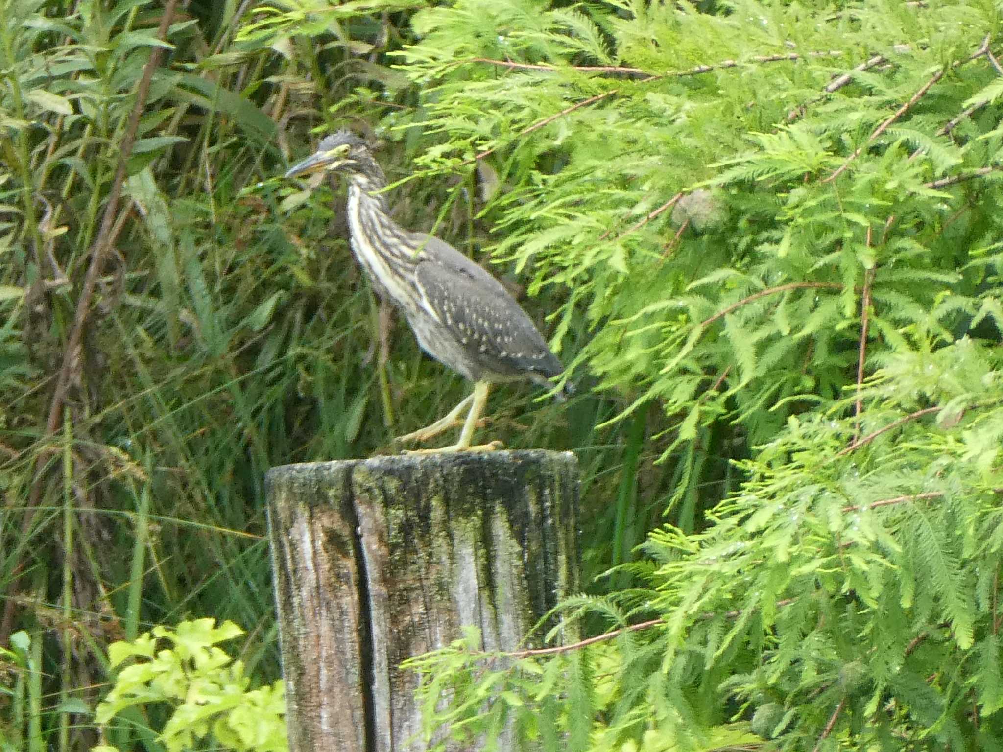
[[[721,724],[745,719],[743,733],[781,749],[826,737],[852,749],[993,748],[1003,358],[969,338],[903,352],[861,397],[860,428],[854,400],[790,416],[741,463],[747,480],[706,531],[653,532],[648,562],[632,568],[644,587],[565,607],[621,630],[648,620],[643,630],[556,658],[513,661],[474,642],[412,661],[430,735],[438,724],[486,731],[478,724],[500,715],[493,728],[511,723],[536,743],[532,719],[550,712],[574,740],[576,691],[599,675],[591,737],[563,747],[657,738],[651,749],[709,749]],[[436,705],[443,688],[455,700]],[[556,716],[555,696],[566,698]]]

